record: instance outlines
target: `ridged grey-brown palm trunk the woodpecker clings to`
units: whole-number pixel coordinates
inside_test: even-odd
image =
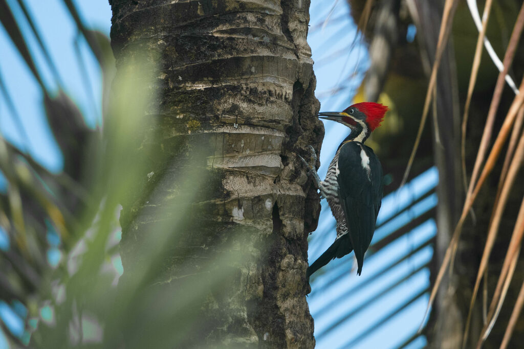
[[[318,150],[324,133],[306,41],[309,0],[110,3],[116,78],[136,57],[158,64],[144,114],[159,130],[137,141],[136,156],[147,143],[163,159],[144,172],[144,183],[156,184],[148,194],[123,203],[121,283],[136,276],[141,246],[155,239],[150,224],[182,210],[185,224],[172,227],[178,238],[151,284],[185,297],[177,280],[204,281],[199,271],[213,256],[247,256],[221,265],[230,277],[206,295],[199,328],[180,347],[313,347],[305,270],[320,205],[297,156],[308,156],[308,144]],[[205,179],[177,182],[197,167]],[[182,200],[190,209],[179,208]]]

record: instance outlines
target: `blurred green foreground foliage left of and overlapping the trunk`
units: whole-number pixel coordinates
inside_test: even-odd
[[[0,321],[2,331],[13,346],[42,348],[198,343],[203,340],[199,329],[205,327],[201,306],[209,301],[210,292],[226,289],[224,283],[233,271],[225,265],[238,263],[242,252],[234,251],[242,249],[224,249],[199,275],[183,275],[182,261],[178,279],[159,277],[166,274],[162,266],[170,256],[169,246],[176,245],[184,232],[195,194],[191,188],[206,180],[206,171],[193,166],[195,171],[184,172],[174,183],[172,176],[164,176],[158,164],[166,159],[155,143],[159,129],[145,115],[154,98],[147,88],[155,66],[130,58],[113,82],[115,63],[108,38],[85,28],[71,1],[64,4],[103,72],[103,126],[86,127],[66,93],[47,91],[40,83],[49,126],[64,157],[63,172],[50,173],[0,136],[0,171],[7,183],[6,192],[0,193],[0,227],[9,239],[8,247],[0,251],[0,300],[19,302],[26,310],[24,334],[12,333]],[[0,0],[0,21],[41,82],[5,0]],[[8,91],[2,92],[9,100]],[[203,163],[199,156],[194,161]],[[152,219],[147,239],[140,241],[133,273],[118,282],[121,203],[147,202],[162,185],[189,190],[179,190],[175,204],[155,211],[154,215],[169,219]],[[148,214],[137,210],[133,215],[142,213]],[[122,222],[133,224],[133,219],[123,217]]]

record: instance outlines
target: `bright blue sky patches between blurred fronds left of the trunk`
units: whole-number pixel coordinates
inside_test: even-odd
[[[23,15],[16,4],[17,2],[11,0],[8,3],[15,16],[22,18]],[[83,62],[81,65],[79,64],[74,48],[77,29],[68,16],[67,8],[61,0],[26,0],[25,3],[41,32],[43,42],[49,48],[52,60],[57,62],[56,65],[60,80],[64,84],[64,90],[81,107],[86,116],[86,123],[95,127],[97,123],[100,123],[100,69],[83,41],[80,41],[78,45]],[[77,0],[75,3],[81,10],[86,24],[109,35],[111,8],[107,0]],[[22,22],[22,24],[24,36],[30,44],[31,52],[34,54],[34,59],[46,86],[51,91],[58,91],[58,84],[53,79],[43,55],[38,50],[29,25],[25,22]],[[2,26],[0,26],[0,47],[2,47],[0,74],[10,97],[13,99],[27,137],[24,137],[16,128],[15,116],[7,108],[3,96],[0,97],[0,102],[2,102],[0,103],[0,129],[2,134],[20,149],[27,150],[49,170],[58,172],[63,165],[62,157],[47,125],[41,91]],[[89,89],[83,83],[80,66],[84,66],[90,76]],[[93,104],[96,108],[93,107]]]

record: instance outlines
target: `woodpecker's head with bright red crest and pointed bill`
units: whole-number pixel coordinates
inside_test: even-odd
[[[350,139],[364,143],[369,134],[380,126],[389,108],[380,103],[355,103],[343,111],[319,112],[319,118],[342,123],[351,129]]]

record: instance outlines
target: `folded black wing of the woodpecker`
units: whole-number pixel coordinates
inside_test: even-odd
[[[369,171],[363,166],[361,153],[369,158]],[[382,200],[382,166],[373,150],[358,142],[347,142],[342,146],[338,165],[339,195],[357,258],[357,274],[360,275]]]

